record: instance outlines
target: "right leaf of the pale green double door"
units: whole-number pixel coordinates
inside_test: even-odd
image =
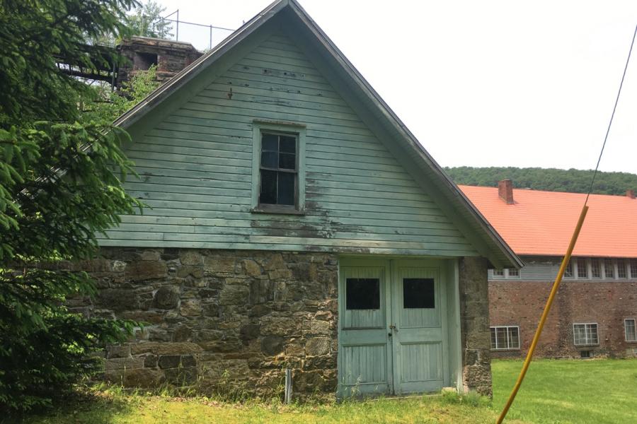
[[[447,304],[439,261],[392,261],[394,393],[449,385]]]

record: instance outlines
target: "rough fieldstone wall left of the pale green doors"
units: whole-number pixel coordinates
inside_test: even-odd
[[[338,261],[331,254],[103,249],[86,267],[105,317],[147,322],[110,346],[105,375],[126,386],[163,382],[297,393],[336,389]]]

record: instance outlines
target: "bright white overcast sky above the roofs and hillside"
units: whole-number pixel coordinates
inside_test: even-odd
[[[156,1],[233,29],[270,4]],[[299,2],[440,165],[595,168],[637,1]],[[637,45],[599,169],[637,173]]]

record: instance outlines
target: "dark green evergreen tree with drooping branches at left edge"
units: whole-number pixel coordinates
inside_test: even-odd
[[[82,114],[92,88],[55,58],[91,67],[108,50],[87,39],[126,35],[134,0],[0,0],[0,409],[52,404],[97,370],[90,354],[132,322],[71,313],[69,296],[93,295],[70,259],[96,254],[96,233],[134,213],[122,181],[127,134]]]

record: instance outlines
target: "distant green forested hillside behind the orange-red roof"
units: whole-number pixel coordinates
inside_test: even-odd
[[[456,184],[497,187],[500,179],[511,179],[513,187],[549,192],[587,193],[592,170],[558,170],[555,168],[518,167],[445,167]],[[597,172],[592,192],[626,194],[637,191],[637,175],[628,172]]]

